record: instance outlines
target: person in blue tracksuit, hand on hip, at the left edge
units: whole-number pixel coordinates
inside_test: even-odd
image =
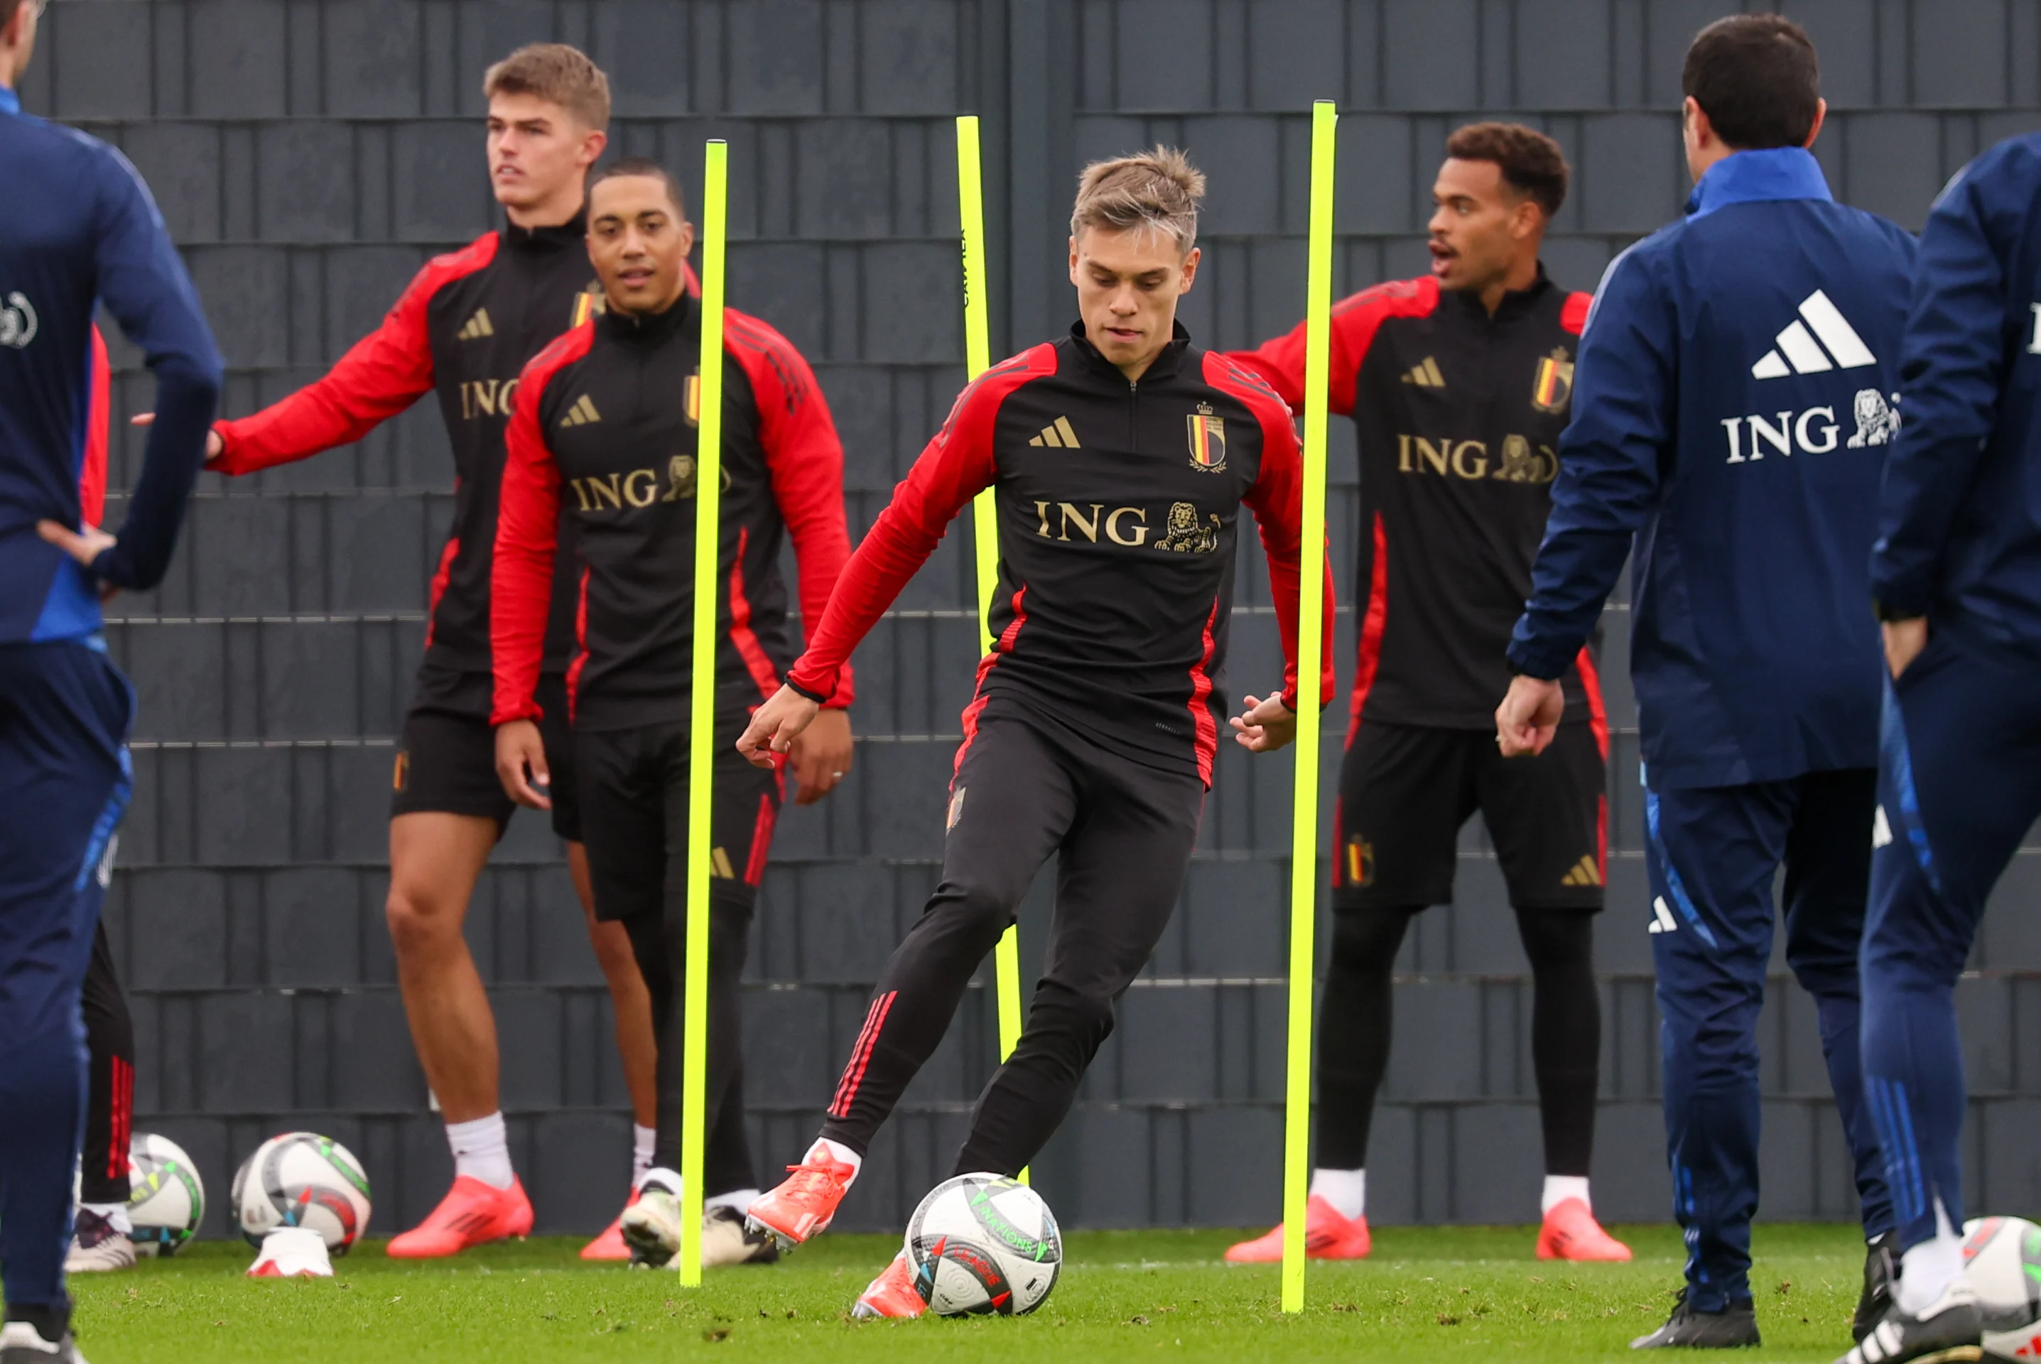
[[[220,357],[163,218],[120,153],[20,112],[45,0],[0,0],[0,1360],[76,1358],[63,1254],[84,1127],[80,987],[129,793],[133,693],[100,597],[169,565]],[[157,379],[118,538],[86,524],[104,467],[92,318]]]

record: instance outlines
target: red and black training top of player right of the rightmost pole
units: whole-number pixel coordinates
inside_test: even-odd
[[[1429,275],[1333,308],[1331,406],[1353,418],[1361,455],[1355,724],[1494,728],[1588,302],[1539,267],[1494,316]],[[1302,402],[1302,324],[1233,359]],[[1563,683],[1567,720],[1600,724],[1592,644]]]

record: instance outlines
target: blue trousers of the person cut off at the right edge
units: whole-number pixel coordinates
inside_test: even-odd
[[[1931,622],[1927,648],[1886,689],[1878,814],[1863,1083],[1910,1248],[1935,1236],[1937,1199],[1963,1225],[1955,977],[2041,816],[2041,661]]]

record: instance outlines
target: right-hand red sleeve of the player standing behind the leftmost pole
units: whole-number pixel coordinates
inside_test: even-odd
[[[771,495],[800,567],[800,618],[812,628],[829,610],[829,593],[851,557],[851,532],[843,524],[843,440],[814,371],[786,336],[737,310],[725,312],[725,334],[757,400]],[[845,663],[829,705],[847,707],[853,695]]]

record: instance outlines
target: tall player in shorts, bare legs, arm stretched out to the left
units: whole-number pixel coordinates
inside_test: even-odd
[[[418,1227],[390,1240],[398,1258],[451,1256],[531,1229],[531,1201],[510,1164],[498,1101],[496,1019],[461,924],[490,850],[516,805],[496,781],[490,730],[490,546],[502,432],[518,369],[596,306],[584,239],[588,167],[608,141],[610,88],[580,51],[520,47],[488,69],[488,165],[504,226],[418,271],[384,324],[316,383],[253,416],[220,422],[210,467],[255,473],[359,440],[427,394],[439,398],[453,444],[453,524],[433,575],[416,693],[398,740],[390,799],[390,940],[418,1062],[447,1121],[453,1189]],[[559,583],[549,695],[565,689],[571,583]],[[563,703],[549,714],[565,716]],[[565,726],[555,724],[565,775]],[[616,1046],[637,1115],[633,1189],[651,1160],[655,1121],[651,1003],[623,932],[596,920],[582,820],[561,783],[553,832],[610,987]],[[718,1134],[718,1168],[749,1168]],[[612,1223],[584,1250],[629,1256]]]

